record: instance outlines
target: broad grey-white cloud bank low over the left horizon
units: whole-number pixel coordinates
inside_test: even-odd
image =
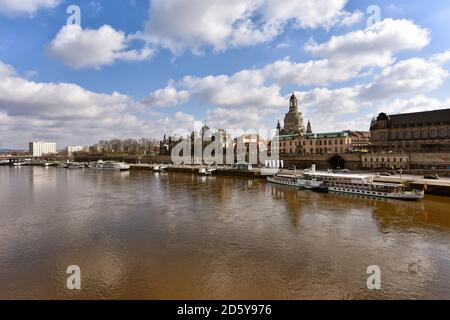
[[[129,96],[96,93],[70,83],[34,82],[0,62],[2,141],[24,146],[33,139],[62,144],[93,144],[114,137],[159,137],[188,125],[180,115],[145,119],[135,114],[138,102]],[[7,70],[7,72],[4,72]]]

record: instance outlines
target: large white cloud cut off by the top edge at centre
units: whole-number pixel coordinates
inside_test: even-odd
[[[153,0],[149,21],[140,36],[174,53],[198,53],[204,47],[226,50],[272,40],[289,22],[297,28],[329,28],[340,21],[346,3],[347,0]]]

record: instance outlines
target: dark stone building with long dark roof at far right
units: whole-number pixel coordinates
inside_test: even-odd
[[[387,115],[370,126],[374,152],[450,151],[450,109]]]

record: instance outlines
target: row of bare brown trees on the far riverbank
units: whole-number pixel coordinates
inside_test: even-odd
[[[129,155],[154,155],[159,150],[159,141],[156,139],[112,139],[100,140],[91,147],[91,151],[100,153],[120,153]]]

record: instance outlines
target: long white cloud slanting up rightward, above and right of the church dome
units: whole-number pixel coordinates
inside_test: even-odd
[[[307,43],[305,50],[322,57],[321,60],[295,63],[287,58],[267,65],[263,72],[282,84],[343,82],[364,75],[367,69],[389,66],[394,62],[394,54],[423,48],[428,42],[427,30],[410,21],[387,19],[365,30],[332,37],[322,44]]]

